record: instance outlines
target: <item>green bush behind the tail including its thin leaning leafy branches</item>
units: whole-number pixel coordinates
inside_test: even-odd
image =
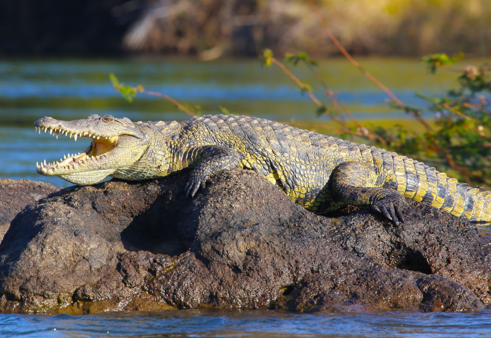
[[[390,128],[370,127],[356,121],[342,102],[333,96],[326,83],[314,70],[317,63],[306,53],[286,54],[285,62],[297,66],[304,63],[316,75],[333,104],[333,111],[317,99],[312,88],[300,81],[285,66],[273,58],[273,53],[265,49],[263,63],[267,66],[277,64],[297,85],[302,94],[308,94],[317,105],[316,115],[327,114],[335,124],[335,132],[341,137],[361,138],[364,142],[385,147],[409,157],[433,165],[460,181],[473,185],[491,187],[491,81],[487,73],[491,68],[467,66],[464,70],[448,67],[463,57],[459,53],[449,57],[447,54],[432,54],[422,58],[431,73],[437,68],[459,72],[456,78],[459,87],[442,96],[431,97],[416,94],[427,102],[423,110],[417,107],[401,105],[401,102],[389,101],[397,109],[402,109],[416,119],[419,128],[412,123],[411,129],[403,125]],[[341,110],[340,107],[343,109]],[[426,112],[423,114],[422,112]],[[430,113],[433,121],[425,121]],[[343,114],[346,114],[343,115]],[[348,117],[350,123],[346,122]],[[363,141],[362,141],[363,142]]]

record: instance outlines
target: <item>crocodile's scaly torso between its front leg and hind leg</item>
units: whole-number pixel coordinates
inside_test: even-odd
[[[368,149],[365,145],[245,116],[208,115],[184,123],[189,142],[213,143],[238,151],[244,156],[241,167],[264,174],[296,203],[317,213],[344,205],[327,192],[330,174],[339,163],[362,160],[360,149]]]

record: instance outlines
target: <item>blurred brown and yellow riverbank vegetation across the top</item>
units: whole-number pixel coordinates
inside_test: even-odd
[[[355,55],[491,48],[489,0],[316,0]],[[0,0],[0,55],[339,54],[304,0]]]

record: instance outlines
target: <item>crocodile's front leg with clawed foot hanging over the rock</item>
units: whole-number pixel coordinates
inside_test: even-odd
[[[203,145],[192,147],[184,153],[183,161],[190,165],[196,163],[186,185],[186,197],[205,188],[206,181],[219,171],[232,170],[239,166],[241,155],[230,148],[219,145]]]

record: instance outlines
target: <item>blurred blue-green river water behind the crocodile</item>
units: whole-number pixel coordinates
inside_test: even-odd
[[[365,59],[366,69],[407,104],[422,105],[414,92],[441,93],[452,87],[455,73],[429,75],[418,60]],[[328,104],[323,89],[306,68],[294,69],[317,97]],[[386,95],[344,59],[323,61],[320,75],[353,115],[362,120],[401,120],[405,113],[389,108]],[[277,67],[264,69],[258,60],[203,63],[172,60],[39,60],[0,61],[0,177],[68,183],[35,172],[36,161],[57,160],[88,145],[47,134],[34,133],[32,123],[43,116],[79,119],[90,114],[126,116],[133,120],[186,120],[171,103],[139,94],[126,102],[109,82],[109,73],[120,81],[158,91],[191,106],[202,114],[247,114],[276,121],[328,121],[315,117],[316,106]]]

